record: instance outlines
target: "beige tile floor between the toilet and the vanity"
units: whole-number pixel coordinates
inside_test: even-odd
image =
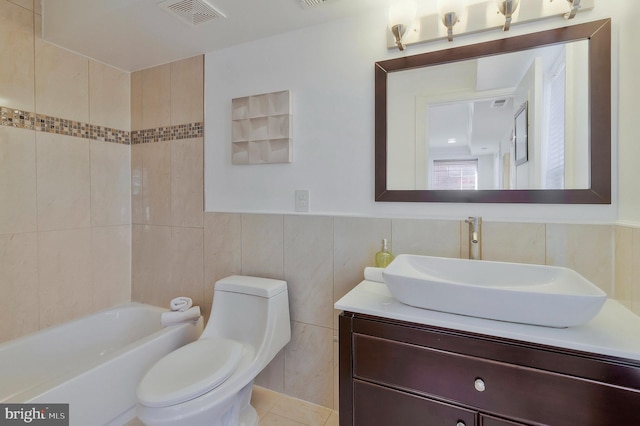
[[[338,412],[272,390],[254,386],[251,405],[258,412],[258,426],[338,426]],[[125,426],[142,426],[134,419]]]

